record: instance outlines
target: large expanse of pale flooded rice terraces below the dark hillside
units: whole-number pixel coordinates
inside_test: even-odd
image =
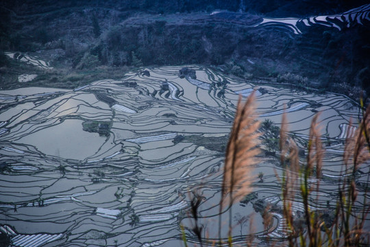
[[[190,227],[186,218],[195,189],[203,198],[206,231],[217,237],[214,220],[236,102],[239,94],[247,97],[254,90],[260,121],[271,119],[280,126],[286,106],[291,137],[303,153],[310,121],[321,112],[326,152],[322,191],[312,209],[334,209],[344,139],[356,129],[360,115],[354,102],[342,95],[277,89],[189,68],[196,78],[180,78],[182,67],[161,67],[75,90],[1,91],[2,237],[12,246],[181,246],[180,223]],[[368,169],[369,164],[363,165],[356,177],[361,199],[355,213],[363,209]],[[271,211],[273,224],[264,231],[258,207],[262,202],[282,207],[278,176],[282,167],[277,157],[262,152],[253,171],[254,192],[233,206],[236,243],[247,235],[266,245],[267,237],[284,239],[281,211]],[[293,202],[293,211],[303,212],[301,202]],[[250,213],[252,232],[249,222],[240,223]],[[223,218],[227,222],[227,213]],[[367,220],[365,229],[369,227]],[[188,241],[196,242],[185,231]]]

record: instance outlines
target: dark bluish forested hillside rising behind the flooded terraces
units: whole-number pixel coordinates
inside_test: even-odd
[[[369,25],[343,25],[341,31],[313,25],[300,35],[288,27],[251,27],[263,17],[339,14],[366,2],[2,1],[0,49],[34,53],[76,73],[99,66],[212,64],[242,78],[309,82],[340,92],[355,86],[352,94],[358,94],[370,78]],[[210,14],[215,10],[225,14]],[[3,71],[16,73],[4,69],[9,62],[1,55]]]

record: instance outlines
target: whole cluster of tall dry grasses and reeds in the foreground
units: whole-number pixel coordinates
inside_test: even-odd
[[[258,193],[252,191],[251,172],[258,160],[258,126],[256,114],[252,108],[253,94],[242,105],[240,99],[236,110],[234,125],[230,134],[225,154],[223,168],[223,182],[221,187],[221,200],[219,203],[219,246],[233,246],[232,204],[241,202],[253,204],[254,210],[263,218],[265,231],[272,224],[272,215],[282,215],[284,228],[279,231],[284,236],[277,239],[267,239],[271,246],[369,246],[370,233],[366,230],[370,204],[367,202],[368,188],[359,189],[356,174],[363,164],[370,159],[370,106],[362,110],[362,119],[354,133],[347,134],[343,154],[343,170],[338,176],[338,194],[333,209],[331,202],[327,202],[327,209],[315,209],[314,202],[319,201],[320,181],[323,170],[324,145],[321,142],[319,113],[314,115],[310,125],[306,161],[299,159],[299,148],[288,134],[288,124],[285,113],[282,117],[281,128],[271,128],[272,122],[264,121],[260,130],[270,132],[267,134],[276,137],[280,148],[280,163],[282,176],[278,176],[282,185],[281,203],[267,202],[259,199]],[[361,104],[364,109],[363,104]],[[277,133],[279,132],[280,133]],[[263,142],[263,141],[262,141]],[[268,144],[268,143],[265,143]],[[259,174],[263,181],[263,174]],[[362,192],[359,199],[359,192]],[[195,195],[190,215],[195,219],[191,232],[198,239],[201,246],[217,246],[214,239],[204,237],[206,229],[199,224],[198,212],[201,207],[200,197]],[[300,209],[297,209],[300,205]],[[227,238],[222,234],[222,219],[224,210],[229,213]],[[241,215],[240,219],[242,218]],[[248,215],[245,215],[248,217]],[[248,217],[249,219],[249,217]],[[245,222],[242,222],[245,224]],[[240,223],[240,224],[242,224]],[[251,221],[249,224],[253,224]],[[241,227],[241,226],[240,226]],[[182,229],[182,240],[188,246],[185,228]],[[255,246],[254,237],[246,237],[246,246]]]

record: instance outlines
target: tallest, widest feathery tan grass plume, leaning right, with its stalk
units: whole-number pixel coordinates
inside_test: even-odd
[[[256,121],[254,112],[254,92],[249,95],[245,104],[242,104],[241,98],[239,95],[234,124],[227,143],[219,209],[219,237],[221,239],[221,213],[225,200],[228,199],[229,246],[232,245],[232,204],[251,192],[251,169],[256,165],[256,155],[259,154],[256,145],[258,145],[260,136],[257,132],[260,123]]]

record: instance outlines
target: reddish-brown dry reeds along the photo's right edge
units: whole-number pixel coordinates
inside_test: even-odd
[[[351,121],[349,122],[348,129],[350,128]],[[365,243],[369,244],[370,240],[365,239],[365,235],[369,236],[369,233],[362,230],[370,209],[370,205],[367,204],[366,191],[362,203],[365,205],[364,209],[362,209],[362,214],[354,215],[352,212],[358,196],[355,181],[356,171],[362,163],[365,163],[370,158],[369,130],[370,106],[366,111],[362,111],[362,119],[356,132],[353,135],[347,132],[343,161],[345,164],[345,174],[351,174],[351,176],[343,178],[341,185],[338,186],[339,200],[336,207],[334,224],[326,233],[329,239],[328,246],[365,246]],[[352,227],[350,227],[351,218],[354,218]]]

